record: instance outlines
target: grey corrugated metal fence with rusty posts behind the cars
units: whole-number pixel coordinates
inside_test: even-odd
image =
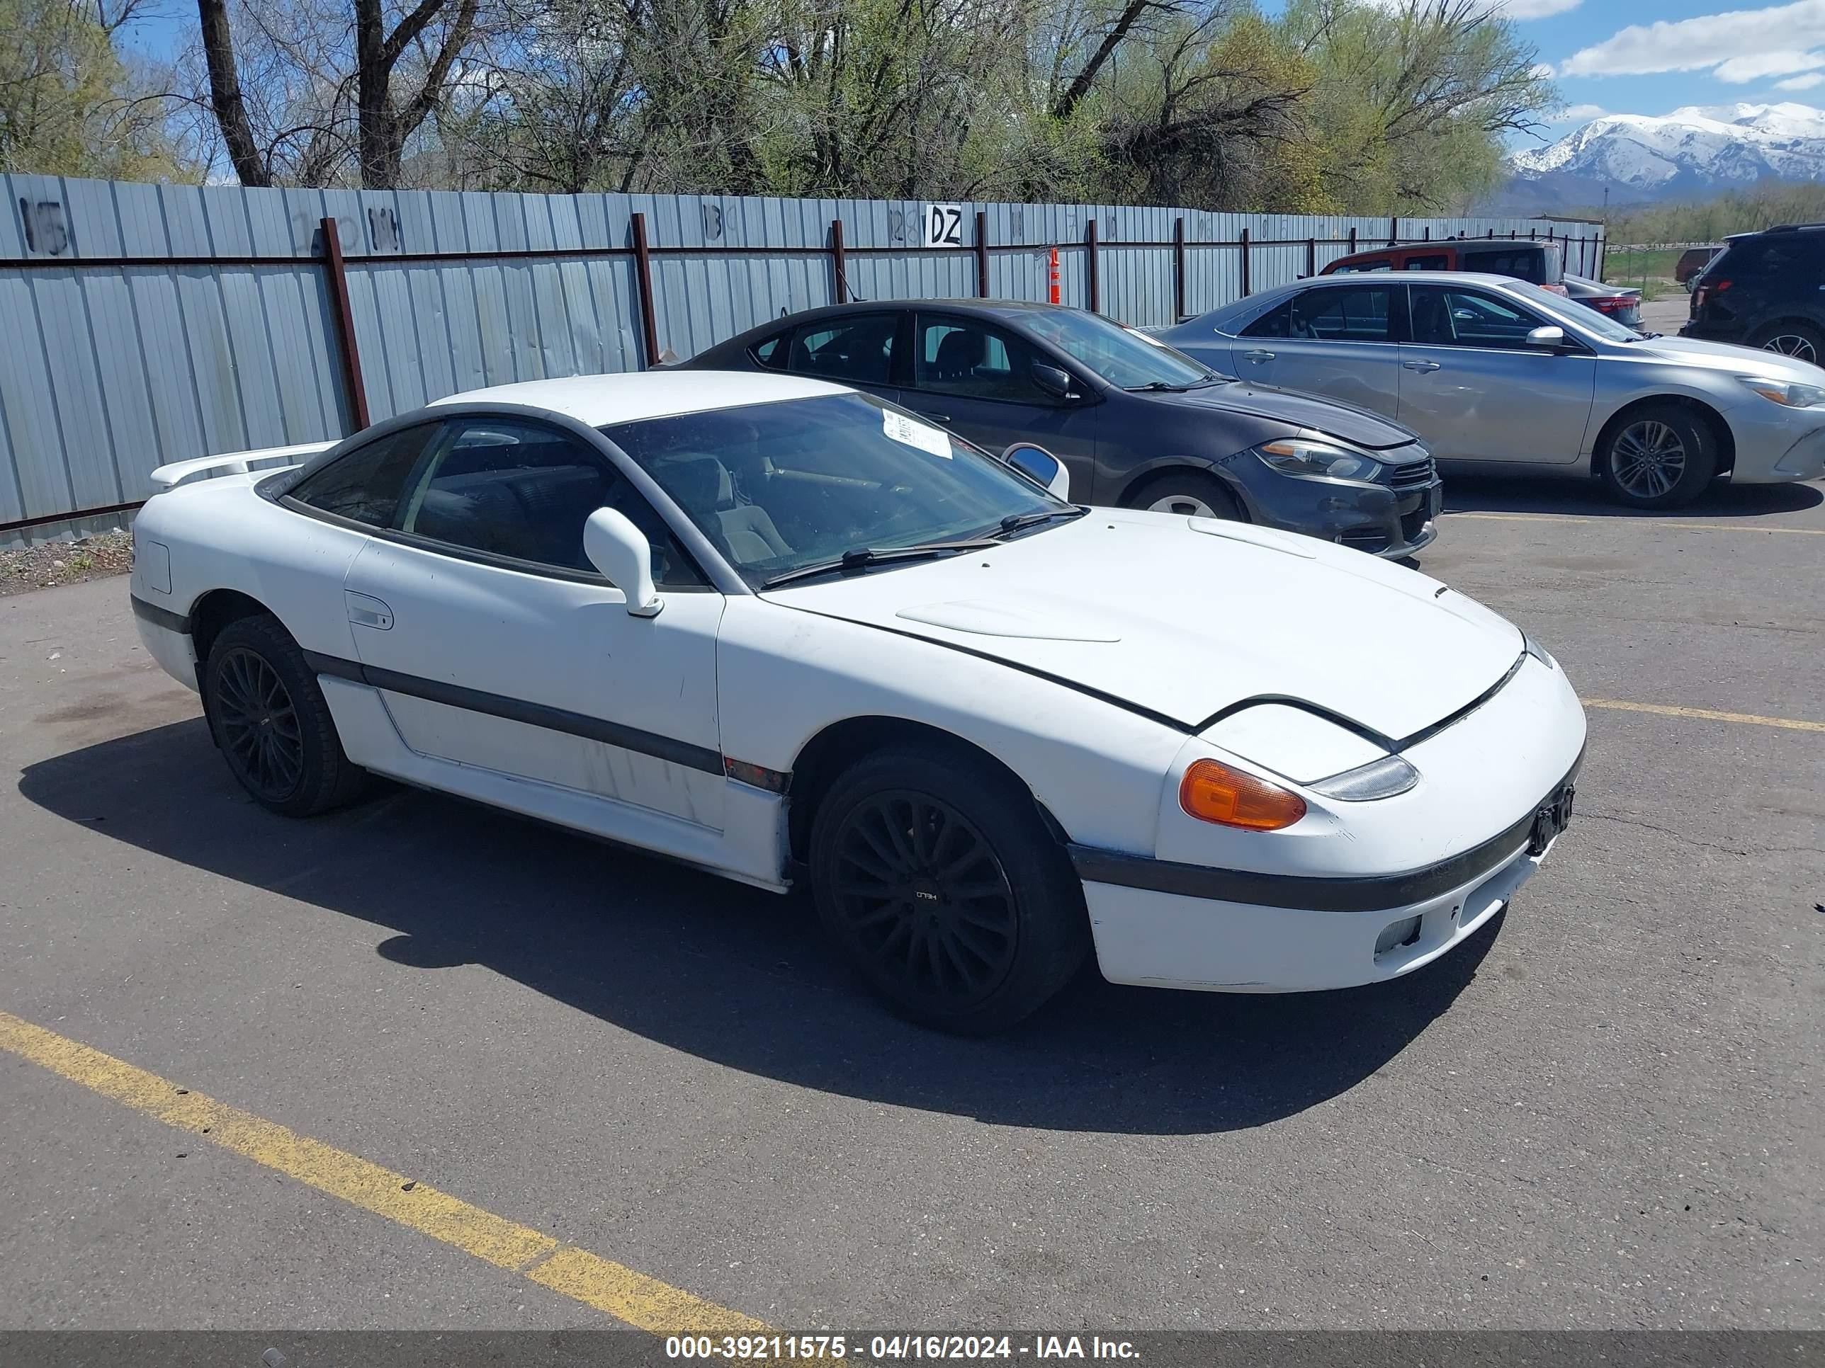
[[[1392,239],[1602,259],[1597,224],[1538,219],[965,204],[925,246],[918,201],[0,184],[0,544],[119,522],[166,461],[688,358],[799,308],[1046,299],[1053,252],[1062,303],[1141,325]]]

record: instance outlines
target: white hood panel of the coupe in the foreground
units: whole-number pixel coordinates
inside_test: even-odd
[[[1272,697],[1411,737],[1487,693],[1522,651],[1511,624],[1416,571],[1292,533],[1126,509],[765,598],[1004,660],[1183,728]]]

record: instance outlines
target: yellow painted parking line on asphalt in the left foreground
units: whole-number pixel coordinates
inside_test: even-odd
[[[0,1049],[212,1145],[339,1197],[655,1335],[756,1335],[761,1321],[412,1182],[321,1140],[0,1012]]]

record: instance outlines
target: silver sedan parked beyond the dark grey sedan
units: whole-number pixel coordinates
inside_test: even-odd
[[[1635,332],[1502,275],[1327,275],[1159,337],[1254,383],[1374,409],[1440,461],[1597,474],[1642,509],[1686,503],[1721,474],[1825,474],[1818,367]]]

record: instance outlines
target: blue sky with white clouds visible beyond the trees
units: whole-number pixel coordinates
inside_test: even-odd
[[[1601,113],[1661,115],[1737,100],[1825,106],[1825,0],[1491,2],[1507,9],[1520,36],[1553,67],[1566,108],[1542,130],[1546,139]],[[188,0],[153,0],[133,38],[168,57],[188,42],[195,22]]]

